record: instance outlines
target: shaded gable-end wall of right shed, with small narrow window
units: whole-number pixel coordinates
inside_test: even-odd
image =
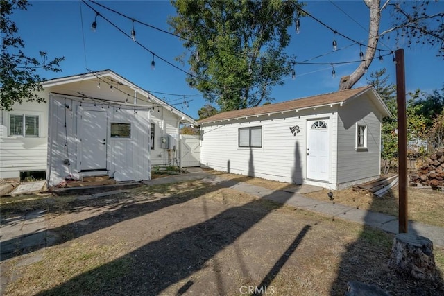
[[[357,124],[367,126],[367,150],[356,149]],[[367,96],[339,108],[338,184],[368,180],[380,173],[380,114]]]

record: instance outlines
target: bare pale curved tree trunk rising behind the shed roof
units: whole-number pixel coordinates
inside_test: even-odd
[[[381,11],[379,10],[380,0],[364,0],[366,6],[370,9],[370,26],[368,33],[368,44],[366,47],[366,53],[364,54],[364,61],[362,61],[357,69],[350,74],[341,78],[339,82],[339,90],[350,89],[366,71],[366,67],[369,68],[370,64],[375,57],[376,47],[379,40],[379,22],[381,20]]]

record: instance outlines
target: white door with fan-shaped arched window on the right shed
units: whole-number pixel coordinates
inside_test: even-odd
[[[323,120],[307,121],[307,179],[328,181],[328,126]]]

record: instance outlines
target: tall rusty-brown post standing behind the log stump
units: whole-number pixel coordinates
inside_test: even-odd
[[[398,103],[398,174],[399,174],[399,233],[408,232],[407,217],[407,115],[405,98],[404,49],[395,51],[396,101]]]

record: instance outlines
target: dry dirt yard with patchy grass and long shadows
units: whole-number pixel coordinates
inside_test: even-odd
[[[223,184],[142,186],[91,200],[49,196],[14,207],[42,204],[53,245],[1,263],[10,279],[5,295],[251,295],[255,288],[344,295],[350,280],[392,295],[444,295],[441,280],[420,283],[387,267],[392,235]],[[444,270],[444,250],[435,256]]]

